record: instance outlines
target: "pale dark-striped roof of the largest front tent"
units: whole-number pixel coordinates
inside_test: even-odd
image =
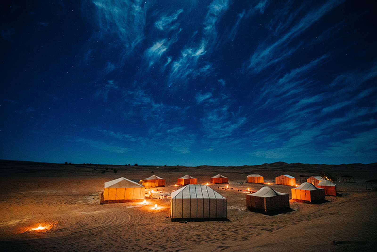
[[[179,199],[226,199],[207,185],[186,185],[172,192],[173,198]]]

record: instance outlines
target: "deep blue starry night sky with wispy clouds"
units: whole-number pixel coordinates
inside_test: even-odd
[[[1,1],[0,159],[377,162],[370,0]]]

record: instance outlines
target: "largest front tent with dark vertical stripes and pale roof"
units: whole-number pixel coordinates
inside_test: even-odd
[[[227,198],[207,185],[186,185],[172,192],[172,219],[227,218]]]

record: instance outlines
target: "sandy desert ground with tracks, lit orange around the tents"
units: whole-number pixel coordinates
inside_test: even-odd
[[[118,170],[114,173],[114,170]],[[282,174],[338,177],[340,196],[311,204],[290,200],[291,212],[265,215],[246,208],[246,176],[261,174],[275,185]],[[376,164],[309,165],[273,163],[257,166],[116,166],[0,162],[0,251],[375,251],[377,247],[377,191],[365,181],[377,179]],[[178,177],[189,174],[198,183],[210,176],[229,178],[229,187],[209,185],[228,201],[228,221],[172,222],[170,199],[100,205],[104,182],[126,177],[166,179],[172,192]],[[342,183],[341,176],[354,176]],[[154,189],[155,190],[155,189]],[[158,209],[154,209],[158,204]],[[28,231],[38,225],[47,231]]]

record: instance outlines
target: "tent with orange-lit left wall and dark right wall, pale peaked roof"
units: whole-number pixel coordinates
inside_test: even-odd
[[[291,189],[292,199],[314,202],[325,199],[325,189],[318,188],[312,183],[303,182],[300,186]]]

